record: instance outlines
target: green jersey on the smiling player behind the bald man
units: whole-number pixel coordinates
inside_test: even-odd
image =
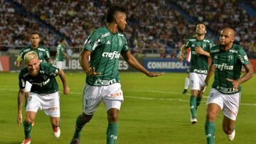
[[[186,48],[191,48],[191,64],[189,72],[196,72],[199,74],[207,74],[208,72],[208,57],[206,55],[199,55],[196,52],[196,47],[200,46],[206,52],[210,52],[210,48],[214,43],[208,38],[197,40],[196,37],[189,38],[186,41]]]

